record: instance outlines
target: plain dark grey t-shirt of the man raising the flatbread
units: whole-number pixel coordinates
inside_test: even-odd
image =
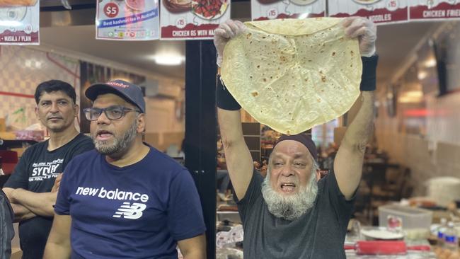
[[[343,242],[353,202],[340,192],[335,173],[318,181],[313,207],[288,221],[268,211],[262,195],[263,176],[254,171],[243,199],[236,199],[243,221],[244,258],[345,259]]]

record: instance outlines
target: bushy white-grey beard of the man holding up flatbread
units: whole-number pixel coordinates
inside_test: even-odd
[[[301,187],[299,192],[293,195],[282,195],[273,190],[270,183],[270,171],[262,183],[263,199],[268,205],[268,211],[275,217],[292,221],[314,206],[318,195],[318,183],[316,182],[316,168],[313,166],[309,184]]]

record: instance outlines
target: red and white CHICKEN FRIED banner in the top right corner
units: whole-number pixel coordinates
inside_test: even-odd
[[[411,21],[451,20],[460,18],[459,0],[410,0]]]

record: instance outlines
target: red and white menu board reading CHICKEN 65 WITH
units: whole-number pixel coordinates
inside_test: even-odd
[[[212,39],[229,19],[230,0],[161,0],[161,39]]]

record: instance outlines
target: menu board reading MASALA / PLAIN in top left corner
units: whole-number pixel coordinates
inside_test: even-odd
[[[38,45],[40,1],[0,1],[0,45]]]

